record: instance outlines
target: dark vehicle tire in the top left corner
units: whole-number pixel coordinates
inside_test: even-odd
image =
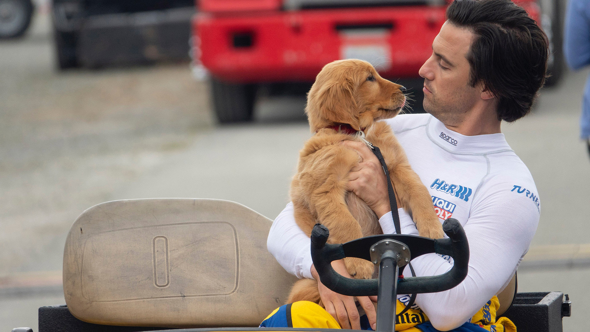
[[[0,0],[0,39],[20,37],[31,25],[31,0]]]

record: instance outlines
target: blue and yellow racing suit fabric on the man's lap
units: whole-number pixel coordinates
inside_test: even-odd
[[[496,311],[500,307],[497,297],[491,298],[469,323],[455,328],[455,332],[516,332],[516,327],[506,317],[496,319]],[[397,301],[396,312],[404,310],[404,303]],[[417,309],[409,309],[398,315],[395,322],[396,331],[404,332],[436,332],[427,315]],[[371,330],[366,315],[360,319],[363,330]],[[260,324],[260,327],[294,327],[294,328],[340,328],[340,324],[324,308],[309,301],[299,301],[276,308]]]

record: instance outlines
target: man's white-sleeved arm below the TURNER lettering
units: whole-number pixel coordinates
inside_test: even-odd
[[[457,328],[497,294],[516,271],[538,222],[536,206],[526,196],[506,200],[506,193],[497,193],[472,209],[464,226],[470,249],[467,277],[453,289],[416,298],[432,326]],[[426,276],[443,274],[452,263],[430,254],[412,260],[412,266],[418,276]]]

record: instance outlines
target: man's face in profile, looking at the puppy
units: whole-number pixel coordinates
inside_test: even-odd
[[[432,56],[418,71],[424,77],[424,110],[445,125],[460,125],[480,100],[479,84],[469,84],[466,58],[473,37],[468,29],[445,22],[432,42]]]

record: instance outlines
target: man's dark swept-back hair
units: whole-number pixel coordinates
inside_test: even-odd
[[[455,0],[447,19],[475,35],[467,54],[471,86],[481,82],[499,99],[499,119],[513,122],[527,115],[545,83],[545,32],[510,0]]]

